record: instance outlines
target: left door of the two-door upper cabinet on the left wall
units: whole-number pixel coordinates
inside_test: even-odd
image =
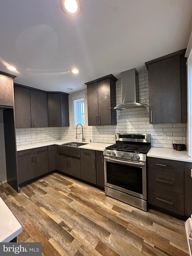
[[[31,127],[30,90],[14,85],[16,128]]]

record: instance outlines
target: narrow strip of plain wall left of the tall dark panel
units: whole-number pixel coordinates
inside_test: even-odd
[[[0,110],[0,181],[2,183],[7,182],[4,127],[3,127],[3,110]]]

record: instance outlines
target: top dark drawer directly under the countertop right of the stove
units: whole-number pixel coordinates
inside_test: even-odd
[[[148,157],[147,164],[150,168],[176,173],[184,173],[184,162],[182,161]]]

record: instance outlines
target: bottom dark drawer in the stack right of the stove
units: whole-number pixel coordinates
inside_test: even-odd
[[[184,196],[181,194],[149,186],[148,203],[184,215]]]

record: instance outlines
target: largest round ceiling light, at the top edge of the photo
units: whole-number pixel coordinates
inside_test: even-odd
[[[81,12],[80,0],[60,0],[60,5],[64,13],[69,16],[77,16]]]

